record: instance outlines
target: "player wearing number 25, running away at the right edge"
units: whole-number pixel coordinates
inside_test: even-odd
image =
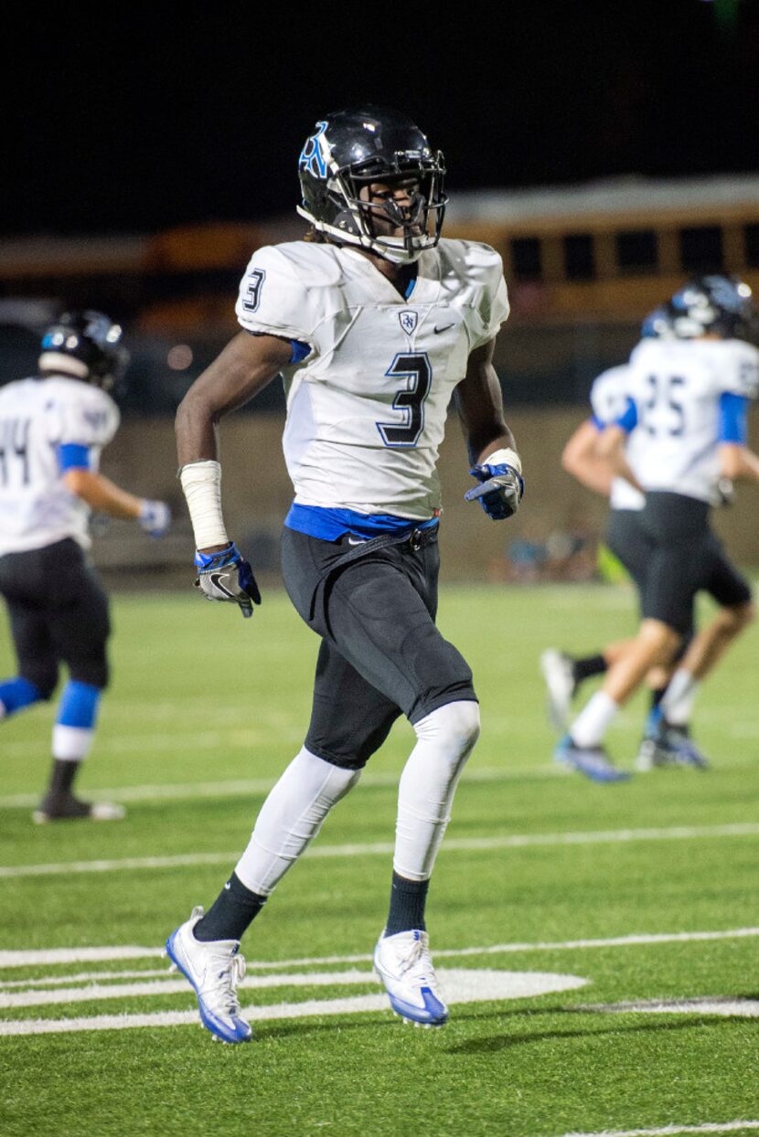
[[[602,453],[612,458],[630,432],[637,437],[627,457],[645,490],[641,524],[651,557],[638,634],[556,749],[559,761],[576,767],[608,761],[608,727],[646,672],[674,658],[699,591],[721,611],[699,657],[690,653],[690,669],[678,669],[662,699],[661,713],[675,727],[682,723],[674,713],[686,721],[699,682],[754,615],[748,582],[709,525],[721,478],[759,480],[759,458],[746,446],[746,409],[759,382],[759,351],[746,342],[756,326],[751,290],[732,277],[702,277],[673,297],[670,316],[675,339],[643,340],[633,351],[628,413],[602,435]]]

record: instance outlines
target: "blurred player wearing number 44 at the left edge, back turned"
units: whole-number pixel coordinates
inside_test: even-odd
[[[0,720],[50,699],[60,664],[68,670],[38,822],[124,815],[80,800],[73,786],[108,683],[108,599],[85,555],[90,512],[133,517],[156,537],[170,523],[163,501],[134,497],[98,470],[119,421],[107,391],[127,360],[118,324],[66,313],[44,333],[39,375],[0,388],[0,594],[18,657],[18,673],[0,680]]]

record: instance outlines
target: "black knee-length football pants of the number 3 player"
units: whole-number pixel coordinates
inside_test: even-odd
[[[305,746],[360,769],[404,714],[476,700],[472,673],[435,626],[437,526],[403,540],[323,541],[286,528],[282,574],[297,612],[322,642]]]

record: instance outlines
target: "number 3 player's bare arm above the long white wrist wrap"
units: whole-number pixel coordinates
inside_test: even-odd
[[[224,415],[249,402],[290,362],[291,348],[275,335],[238,332],[198,375],[176,412],[180,467],[217,458],[216,425]]]

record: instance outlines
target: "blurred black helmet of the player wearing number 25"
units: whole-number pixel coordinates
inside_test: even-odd
[[[756,340],[757,309],[751,288],[737,276],[698,276],[669,301],[678,339],[712,334],[729,340]]]

